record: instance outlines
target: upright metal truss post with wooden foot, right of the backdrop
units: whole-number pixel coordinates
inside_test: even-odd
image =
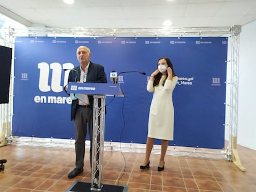
[[[229,130],[229,161],[233,161],[239,169],[245,172],[237,152],[237,114],[238,114],[238,85],[239,85],[239,34],[241,25],[234,25],[230,29],[231,44],[231,109],[230,109],[230,130]]]

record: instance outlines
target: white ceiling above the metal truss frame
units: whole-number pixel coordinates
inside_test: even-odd
[[[27,27],[230,27],[256,20],[255,0],[0,0],[0,12]]]

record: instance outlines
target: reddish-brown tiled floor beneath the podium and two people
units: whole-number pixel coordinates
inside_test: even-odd
[[[159,155],[150,159],[150,170],[139,169],[143,153],[104,153],[103,183],[128,185],[129,192],[256,191],[256,151],[238,146],[241,172],[223,159],[166,156],[165,169],[157,171]],[[88,151],[81,175],[68,179],[74,168],[74,149],[7,145],[0,148],[0,159],[7,159],[0,172],[0,191],[66,191],[75,180],[90,182]],[[125,167],[125,169],[124,169]],[[111,191],[108,191],[111,192]]]

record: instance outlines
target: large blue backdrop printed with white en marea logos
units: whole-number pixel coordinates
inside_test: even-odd
[[[85,45],[91,61],[118,80],[124,98],[106,98],[105,140],[145,143],[152,93],[148,77],[160,57],[169,57],[179,81],[173,93],[174,141],[170,145],[224,148],[228,38],[48,38],[18,37],[14,46],[12,134],[74,138],[70,98],[63,90],[69,70],[79,65],[76,49]],[[121,134],[122,133],[122,134]],[[157,144],[160,141],[156,141]]]

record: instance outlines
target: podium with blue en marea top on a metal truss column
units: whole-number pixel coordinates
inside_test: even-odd
[[[101,191],[103,188],[105,100],[106,96],[124,96],[124,94],[118,84],[73,82],[69,83],[67,93],[70,93],[71,98],[74,94],[93,95],[92,182],[90,191]]]

